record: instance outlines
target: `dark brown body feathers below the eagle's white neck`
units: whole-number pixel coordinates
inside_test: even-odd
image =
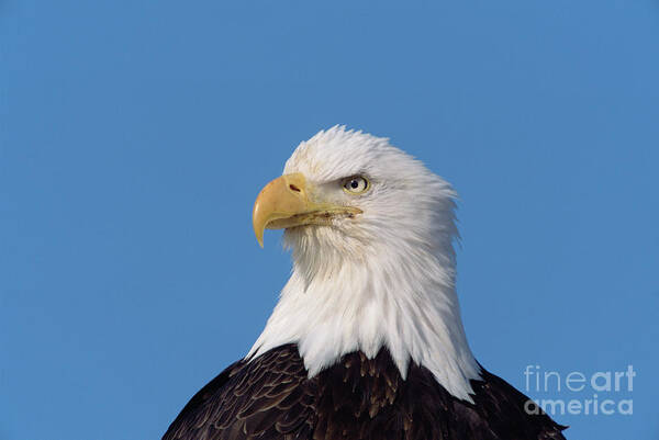
[[[527,397],[482,370],[473,404],[425,368],[403,381],[386,349],[361,352],[308,379],[295,345],[228,366],[186,405],[163,440],[565,440],[528,415]]]

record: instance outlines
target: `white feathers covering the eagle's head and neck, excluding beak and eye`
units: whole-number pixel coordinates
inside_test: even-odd
[[[248,357],[298,343],[311,376],[343,354],[387,347],[403,377],[410,362],[471,400],[479,366],[455,293],[455,192],[388,139],[335,126],[303,142],[284,173],[305,176],[316,196],[364,213],[332,226],[284,233],[293,273]],[[362,176],[353,195],[340,182]]]

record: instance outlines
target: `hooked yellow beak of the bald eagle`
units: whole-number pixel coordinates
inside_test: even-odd
[[[314,202],[310,199],[306,179],[297,172],[268,183],[256,198],[252,221],[254,234],[264,247],[264,232],[302,225],[330,225],[337,215],[354,216],[361,210]]]

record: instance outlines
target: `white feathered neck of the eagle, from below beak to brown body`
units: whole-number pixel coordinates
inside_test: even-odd
[[[389,247],[323,258],[294,250],[292,275],[248,358],[284,343],[298,345],[310,376],[347,353],[375,358],[386,347],[403,379],[414,362],[468,402],[470,381],[480,377],[460,318],[453,249]]]

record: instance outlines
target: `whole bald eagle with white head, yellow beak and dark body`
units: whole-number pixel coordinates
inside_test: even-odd
[[[247,356],[164,440],[558,440],[474,359],[455,290],[451,187],[387,138],[303,142],[254,205],[293,271]]]

